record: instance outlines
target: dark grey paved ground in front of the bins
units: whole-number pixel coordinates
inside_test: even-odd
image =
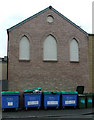
[[[94,108],[5,111],[2,117],[2,120],[94,120]]]

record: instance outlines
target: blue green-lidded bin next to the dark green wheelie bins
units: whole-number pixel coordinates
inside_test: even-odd
[[[77,91],[62,91],[62,107],[73,106],[74,108],[77,106]]]

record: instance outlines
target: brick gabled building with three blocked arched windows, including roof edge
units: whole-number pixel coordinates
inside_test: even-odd
[[[7,31],[9,90],[90,90],[88,34],[53,7]]]

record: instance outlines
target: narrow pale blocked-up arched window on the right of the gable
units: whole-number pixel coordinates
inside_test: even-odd
[[[76,39],[72,39],[70,42],[70,61],[79,61],[79,47]]]

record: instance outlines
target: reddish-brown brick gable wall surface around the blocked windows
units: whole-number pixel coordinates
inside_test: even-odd
[[[54,17],[53,23],[46,21]],[[57,62],[43,61],[43,42],[52,34],[57,40]],[[23,35],[30,40],[30,61],[19,61],[19,42]],[[79,41],[79,63],[70,63],[69,44]],[[48,10],[9,32],[9,90],[41,87],[42,90],[76,90],[78,85],[89,91],[88,40],[79,29],[52,10]]]

